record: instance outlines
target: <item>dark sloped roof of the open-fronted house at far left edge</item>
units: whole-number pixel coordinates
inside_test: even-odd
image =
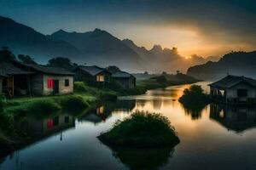
[[[31,74],[30,71],[23,71],[16,67],[10,62],[0,62],[0,75],[3,77],[8,77],[10,75],[26,75]]]

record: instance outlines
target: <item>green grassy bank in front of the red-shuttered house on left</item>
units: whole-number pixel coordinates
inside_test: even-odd
[[[75,82],[74,94],[16,98],[7,101],[2,99],[0,101],[3,103],[3,107],[0,109],[2,108],[4,114],[11,116],[20,114],[49,116],[59,111],[80,112],[97,101],[116,99],[117,94],[111,90],[93,88],[85,85],[84,82]]]

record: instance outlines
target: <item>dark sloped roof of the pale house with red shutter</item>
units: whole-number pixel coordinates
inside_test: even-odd
[[[59,67],[49,67],[44,65],[26,65],[27,67],[31,67],[35,71],[43,72],[46,74],[54,74],[54,75],[73,75],[73,72],[67,71],[66,69]]]

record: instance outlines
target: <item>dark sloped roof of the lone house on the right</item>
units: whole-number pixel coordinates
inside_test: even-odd
[[[231,88],[240,82],[247,82],[251,86],[256,87],[256,80],[254,80],[253,78],[237,77],[237,76],[231,76],[231,75],[224,77],[218,82],[213,82],[212,84],[209,84],[209,86],[214,88]]]

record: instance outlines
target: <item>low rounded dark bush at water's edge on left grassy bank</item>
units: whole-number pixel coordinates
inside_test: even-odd
[[[61,99],[61,106],[65,111],[82,111],[89,105],[82,96],[73,95]]]

